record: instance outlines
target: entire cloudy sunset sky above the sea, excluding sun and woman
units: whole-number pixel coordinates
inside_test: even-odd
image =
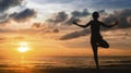
[[[131,56],[129,0],[0,0],[0,56],[19,54],[22,42],[31,48],[28,56],[92,56],[90,27],[83,29],[72,21],[86,24],[94,11],[106,24],[119,21],[103,28],[110,48],[99,48],[99,54]]]

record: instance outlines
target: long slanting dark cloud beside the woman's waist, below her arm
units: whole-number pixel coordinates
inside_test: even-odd
[[[88,35],[90,31],[88,29],[83,29],[83,31],[76,31],[70,34],[66,34],[63,35],[60,40],[67,40],[67,39],[73,39],[73,38],[78,38],[81,36],[85,36]]]

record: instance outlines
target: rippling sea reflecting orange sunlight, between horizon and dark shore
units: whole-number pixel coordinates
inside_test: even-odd
[[[131,57],[99,57],[102,68],[131,68]],[[116,66],[117,65],[117,66]],[[35,57],[35,58],[1,58],[0,69],[31,68],[31,69],[52,69],[52,68],[95,68],[93,57]]]

